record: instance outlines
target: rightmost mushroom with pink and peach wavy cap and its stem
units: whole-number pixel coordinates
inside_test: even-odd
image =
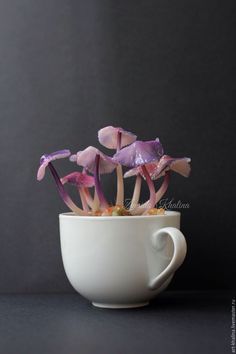
[[[168,155],[163,155],[159,162],[150,164],[147,166],[149,175],[152,180],[157,180],[158,178],[164,176],[164,180],[162,182],[161,187],[156,192],[156,203],[163,197],[165,194],[169,181],[170,181],[170,171],[174,171],[179,173],[184,177],[188,177],[191,171],[190,163],[191,159],[188,157],[182,158],[174,158]],[[142,172],[141,172],[142,173]],[[155,204],[156,204],[155,203]],[[138,209],[141,210],[142,208],[148,207],[148,201],[142,204]]]

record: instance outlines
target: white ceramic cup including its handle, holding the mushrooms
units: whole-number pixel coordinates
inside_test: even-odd
[[[147,305],[186,255],[180,213],[155,216],[59,215],[62,259],[72,286],[93,305]]]

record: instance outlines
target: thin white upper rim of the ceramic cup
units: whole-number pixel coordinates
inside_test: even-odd
[[[59,218],[73,218],[80,220],[150,220],[150,219],[162,219],[169,218],[171,216],[180,216],[181,213],[175,210],[166,210],[165,214],[162,215],[133,215],[133,216],[86,216],[77,215],[73,212],[60,213]]]

